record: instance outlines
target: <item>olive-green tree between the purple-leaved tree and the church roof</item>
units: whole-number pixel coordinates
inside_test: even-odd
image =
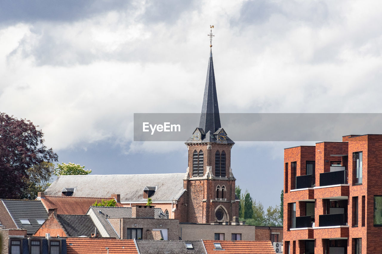
[[[52,162],[43,161],[27,170],[28,177],[25,178],[28,189],[25,197],[28,199],[36,199],[37,193],[45,191],[52,180],[54,172],[54,164]]]

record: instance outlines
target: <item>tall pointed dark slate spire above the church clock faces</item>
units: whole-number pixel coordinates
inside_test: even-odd
[[[204,133],[209,131],[214,133],[220,127],[219,105],[217,103],[214,63],[212,61],[211,50],[207,68],[206,87],[204,88],[199,128],[203,129]]]

